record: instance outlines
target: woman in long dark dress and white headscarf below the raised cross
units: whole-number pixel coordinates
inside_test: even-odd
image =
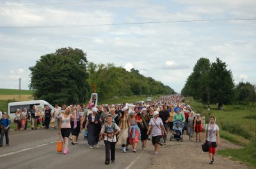
[[[98,109],[93,107],[92,114],[88,115],[88,119],[85,124],[85,130],[88,130],[88,145],[91,149],[96,145],[98,148],[99,141],[99,125],[100,125],[100,115],[97,114]]]

